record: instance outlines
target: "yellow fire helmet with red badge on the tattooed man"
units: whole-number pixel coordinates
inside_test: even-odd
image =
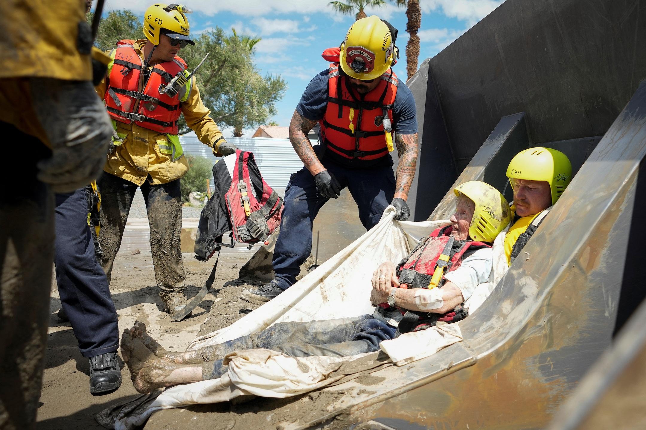
[[[341,44],[339,63],[349,77],[369,81],[386,73],[396,58],[390,29],[372,15],[352,24]]]

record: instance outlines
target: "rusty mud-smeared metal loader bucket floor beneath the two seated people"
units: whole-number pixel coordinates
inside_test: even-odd
[[[517,127],[522,115],[509,122]],[[501,124],[499,124],[501,126]],[[512,132],[516,130],[511,127]],[[456,181],[513,157],[494,130]],[[521,133],[522,135],[522,133]],[[503,136],[503,137],[501,137]],[[507,148],[505,150],[505,148]],[[596,144],[523,255],[477,313],[464,340],[406,366],[383,366],[286,400],[192,407],[192,428],[537,429],[610,345],[622,288],[636,288],[627,244],[646,155],[646,82]],[[494,163],[495,164],[495,163]],[[504,170],[501,170],[504,178]],[[643,204],[642,204],[643,206]],[[435,210],[450,210],[448,199]],[[376,357],[376,354],[375,354]],[[372,358],[375,358],[372,357]],[[379,357],[377,357],[379,359]],[[359,366],[360,367],[360,366]],[[358,368],[360,370],[360,368]],[[164,411],[163,422],[182,411]],[[156,415],[147,428],[160,427]],[[181,421],[181,420],[180,420]]]

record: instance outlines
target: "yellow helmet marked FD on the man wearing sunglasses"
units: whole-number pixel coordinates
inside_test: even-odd
[[[160,33],[194,45],[195,43],[189,37],[191,27],[185,15],[192,12],[186,6],[175,3],[171,5],[156,3],[147,8],[143,14],[143,34],[154,45],[160,44]]]

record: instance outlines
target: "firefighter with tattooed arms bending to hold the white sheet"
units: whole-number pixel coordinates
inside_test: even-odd
[[[412,93],[393,70],[396,37],[393,26],[373,15],[353,23],[340,46],[323,53],[328,68],[309,83],[289,126],[289,139],[305,167],[287,186],[273,254],[275,277],[259,289],[245,290],[245,300],[267,302],[296,282],[311,252],[318,210],[344,188],[357,202],[366,230],[389,205],[395,219],[410,216],[406,199],[417,166],[417,117]],[[317,122],[321,144],[312,146],[307,132]],[[395,146],[396,177],[390,155]]]

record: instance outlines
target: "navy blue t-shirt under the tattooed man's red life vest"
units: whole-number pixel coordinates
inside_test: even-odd
[[[312,79],[300,97],[296,110],[300,115],[312,121],[323,119],[326,107],[328,106],[328,70],[318,73]],[[398,134],[417,133],[417,117],[415,116],[415,99],[410,88],[399,81],[395,103],[393,103],[393,130]],[[326,153],[329,153],[326,152]],[[335,161],[343,162],[340,157],[334,157]],[[390,154],[383,157],[384,162],[392,163]],[[346,162],[343,162],[346,164]],[[379,163],[381,164],[381,163]]]

